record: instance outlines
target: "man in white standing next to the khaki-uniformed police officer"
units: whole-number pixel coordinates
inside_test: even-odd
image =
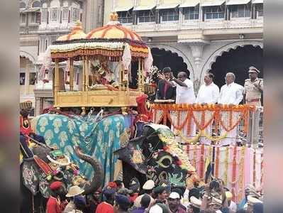
[[[220,96],[218,99],[218,104],[228,104],[228,105],[238,105],[243,100],[243,90],[244,87],[240,84],[236,84],[235,75],[233,72],[228,72],[225,77],[226,84],[224,84],[220,89]],[[226,133],[226,131],[221,128],[221,135]],[[230,145],[231,143],[235,145],[237,135],[237,128],[235,127],[227,133],[226,138],[221,140],[222,146]]]

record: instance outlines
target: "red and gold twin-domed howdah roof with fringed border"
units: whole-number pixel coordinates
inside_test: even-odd
[[[62,35],[50,47],[51,58],[78,60],[82,56],[105,56],[117,60],[123,56],[125,48],[131,51],[131,57],[148,58],[148,46],[140,36],[118,22],[117,13],[111,13],[111,21],[106,26],[96,28],[87,35],[82,25],[76,24],[72,32]]]

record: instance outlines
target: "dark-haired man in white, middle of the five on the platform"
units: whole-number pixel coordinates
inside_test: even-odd
[[[199,92],[196,97],[196,104],[216,104],[219,98],[219,87],[213,83],[214,75],[212,73],[206,73],[204,76],[204,84],[199,88]],[[211,136],[211,124],[204,129],[206,135]],[[205,136],[201,136],[200,142],[206,145],[210,145],[211,141]]]

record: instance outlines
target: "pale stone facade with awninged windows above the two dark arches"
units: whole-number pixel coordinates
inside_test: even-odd
[[[112,0],[105,1],[104,8],[104,24],[107,14],[116,11],[121,23],[150,48],[177,53],[196,91],[223,53],[246,45],[262,48],[262,0]]]

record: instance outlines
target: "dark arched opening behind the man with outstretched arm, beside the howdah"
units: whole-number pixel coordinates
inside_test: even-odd
[[[190,73],[187,64],[177,53],[160,48],[151,48],[151,54],[153,58],[152,65],[158,67],[160,70],[164,67],[171,67],[174,77],[177,77],[179,72],[187,72],[189,76]]]

